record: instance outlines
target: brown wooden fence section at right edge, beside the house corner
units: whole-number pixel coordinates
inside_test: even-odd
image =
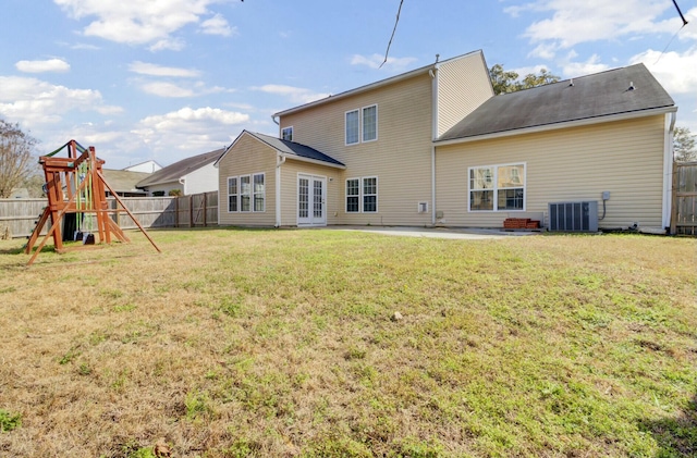
[[[697,162],[673,164],[671,234],[697,235]]]

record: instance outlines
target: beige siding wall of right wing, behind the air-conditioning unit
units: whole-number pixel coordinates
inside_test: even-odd
[[[451,226],[501,227],[515,212],[467,212],[467,169],[525,163],[526,211],[597,200],[600,227],[662,225],[664,116],[594,124],[437,148],[437,210]]]

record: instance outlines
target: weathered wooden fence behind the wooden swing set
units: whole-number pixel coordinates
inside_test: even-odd
[[[218,224],[218,193],[204,193],[182,197],[121,197],[123,203],[144,227],[203,227]],[[112,209],[120,207],[117,199],[108,199]],[[8,226],[13,237],[32,234],[47,199],[0,199],[0,226]],[[129,213],[114,213],[119,226],[137,228]],[[50,225],[41,234],[46,234]]]

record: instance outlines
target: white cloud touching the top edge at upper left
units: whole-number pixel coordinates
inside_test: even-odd
[[[176,50],[183,47],[183,41],[173,39],[171,34],[186,25],[198,23],[201,16],[210,14],[208,5],[218,0],[53,0],[53,2],[75,20],[91,20],[82,29],[85,36],[129,45],[151,44],[150,50]],[[213,30],[219,34],[223,32],[224,18],[217,17],[218,15],[206,21],[208,25],[204,26],[204,30]]]

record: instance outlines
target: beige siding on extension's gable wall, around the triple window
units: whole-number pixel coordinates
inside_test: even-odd
[[[273,226],[276,224],[276,150],[249,135],[242,135],[218,164],[219,224]],[[228,212],[228,177],[264,173],[264,212]]]

